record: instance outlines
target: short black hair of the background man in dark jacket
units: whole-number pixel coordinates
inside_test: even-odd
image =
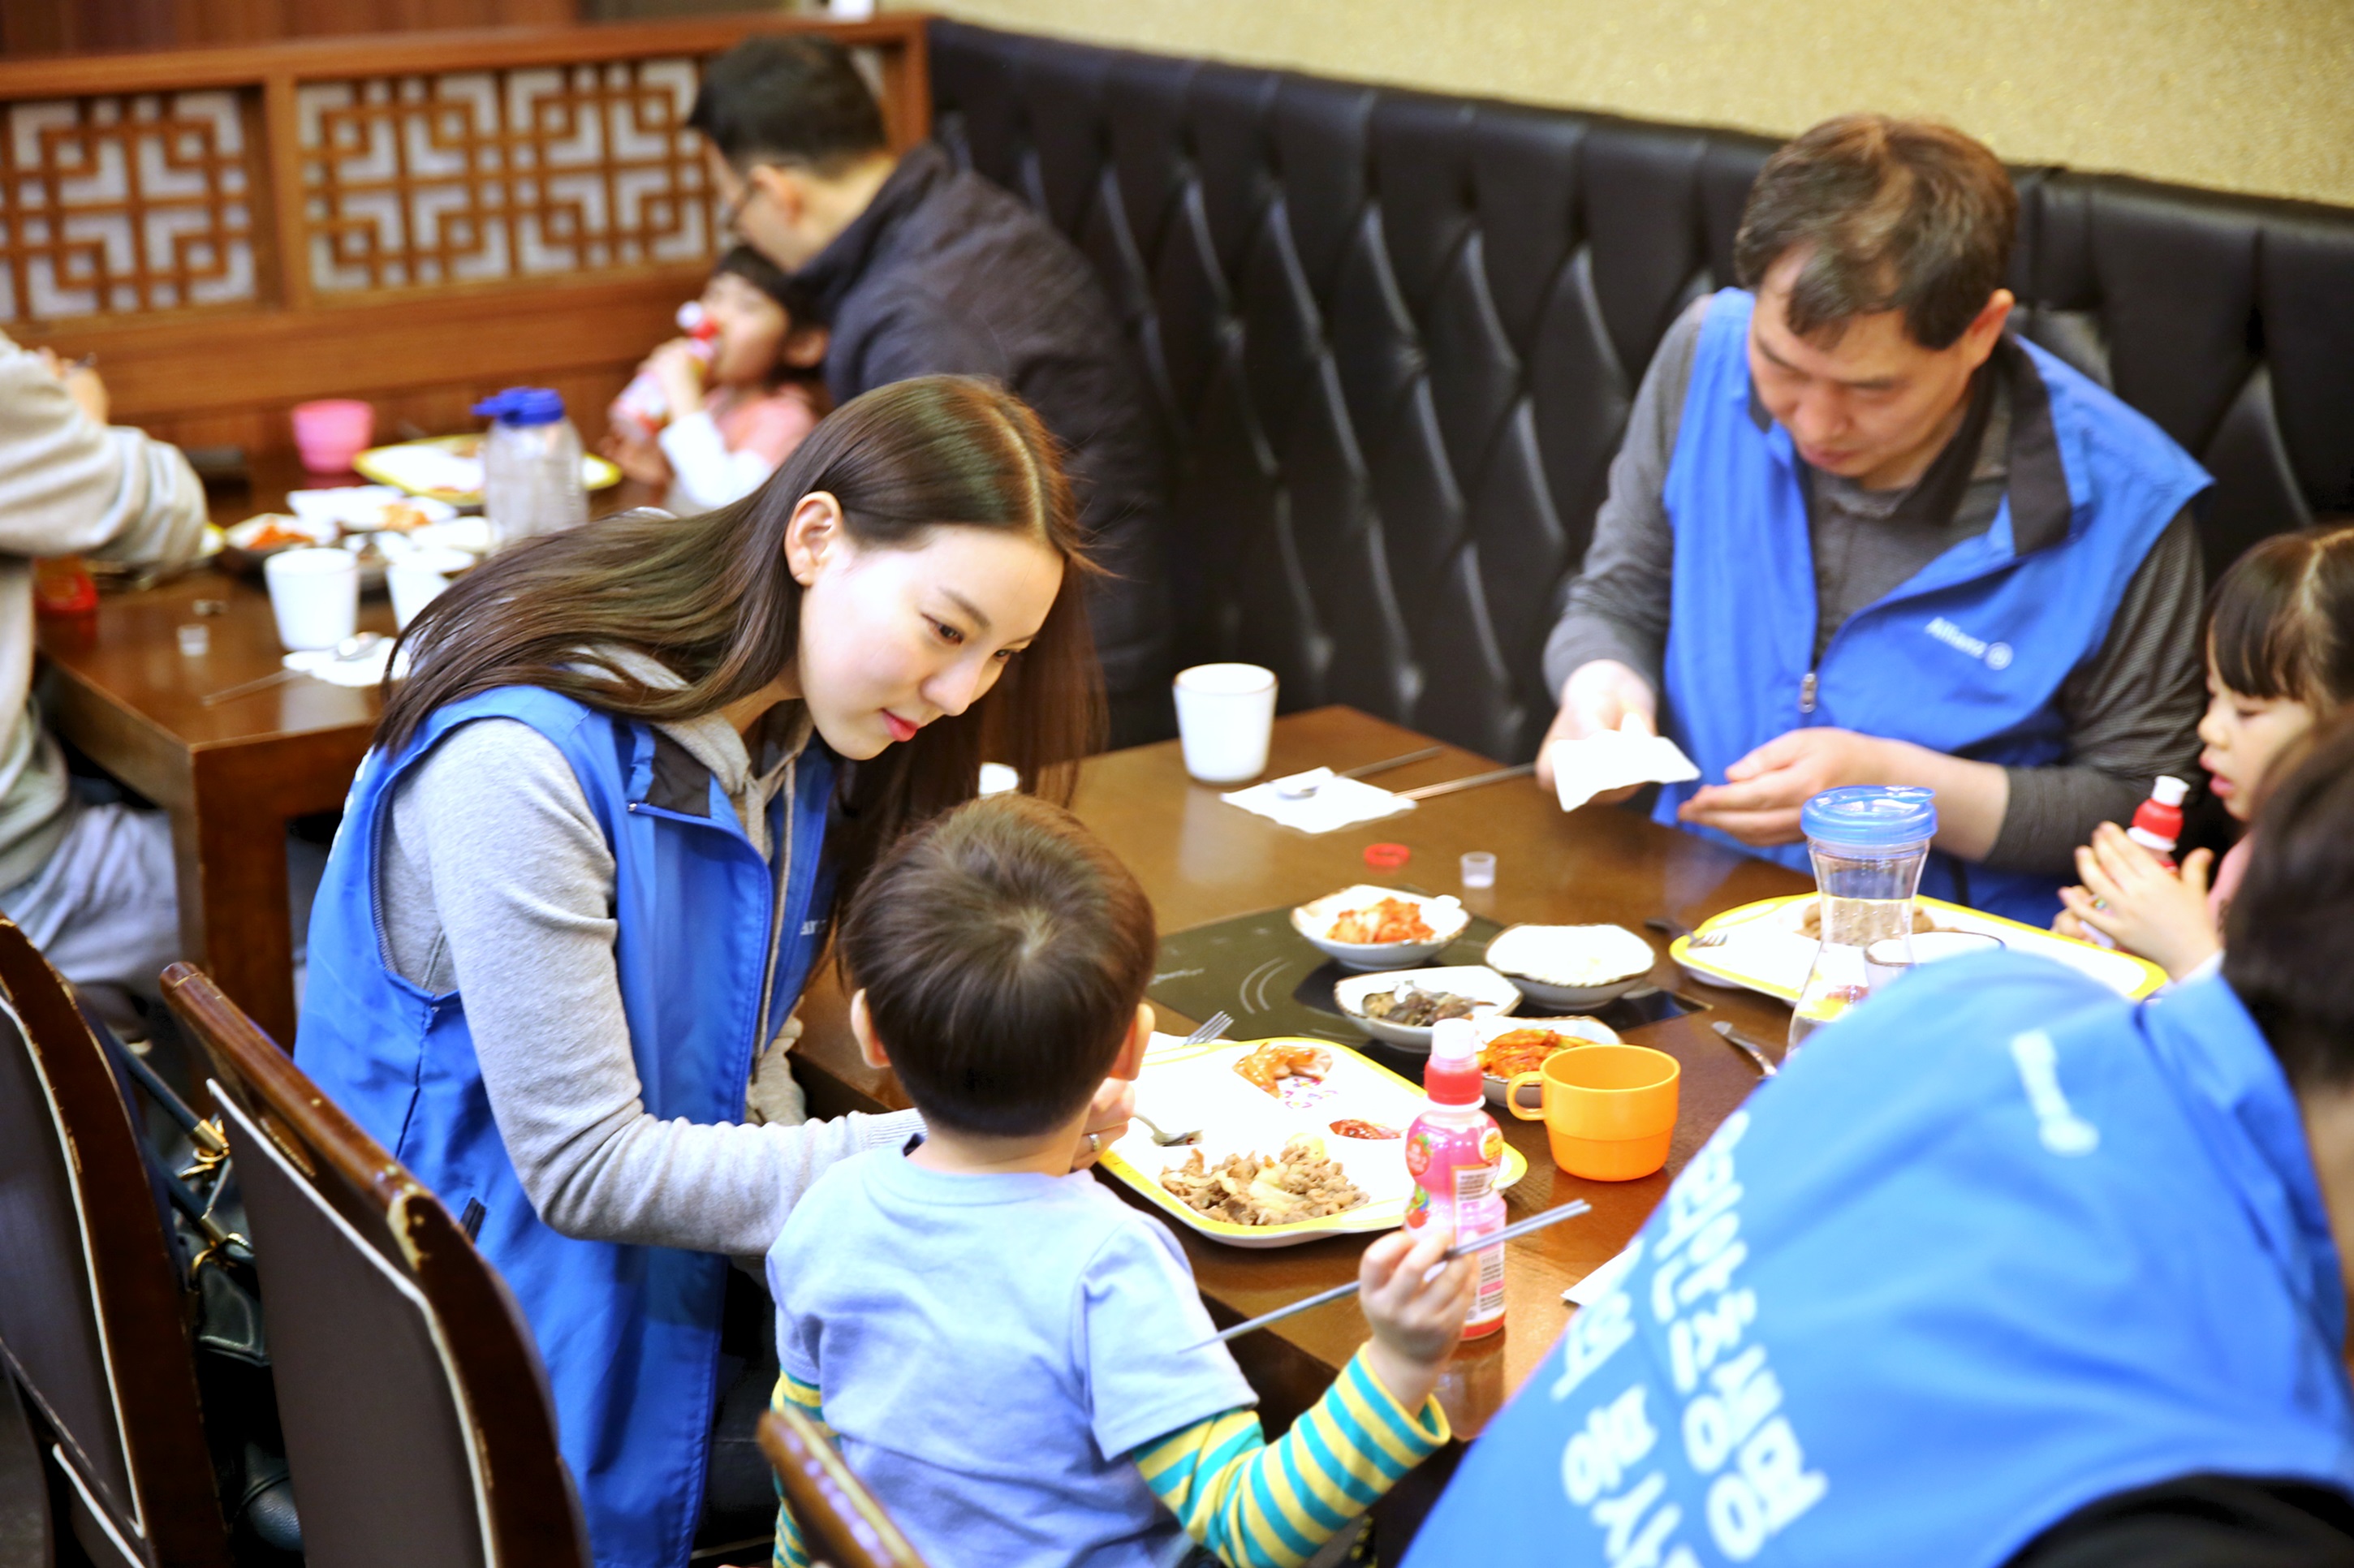
[[[850,49],[814,33],[746,38],[704,66],[687,129],[737,170],[791,162],[829,174],[890,146]]]

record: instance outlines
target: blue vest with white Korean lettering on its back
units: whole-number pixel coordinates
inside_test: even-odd
[[[1415,1540],[1994,1568],[2196,1471],[2354,1490],[2345,1285],[2239,996],[1916,970],[1716,1130]]]

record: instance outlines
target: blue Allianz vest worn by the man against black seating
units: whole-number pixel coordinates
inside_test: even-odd
[[[1994,525],[1857,610],[1817,666],[1803,464],[1789,431],[1775,421],[1761,428],[1749,388],[1749,313],[1742,290],[1709,301],[1667,469],[1676,534],[1667,732],[1709,784],[1803,725],[2008,768],[2067,758],[2060,685],[2100,650],[2126,584],[2208,476],[2149,419],[2022,341],[2017,351],[2043,398],[2015,398],[2013,487]],[[2043,421],[2020,403],[2048,403],[2055,452],[2032,450]],[[2069,511],[2064,534],[2027,549],[2015,534],[2022,457],[2046,466],[2057,459]],[[1676,808],[1695,789],[1662,789],[1657,819],[1681,826]],[[1808,869],[1803,843],[1751,850],[1714,829],[1693,831]],[[1991,866],[1966,876],[1968,902],[1980,909],[2032,925],[2060,911],[2055,876]],[[1954,864],[1933,857],[1921,890],[1956,897]]]

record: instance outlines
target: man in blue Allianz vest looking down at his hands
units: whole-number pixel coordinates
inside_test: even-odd
[[[2017,193],[1881,115],[1768,160],[1742,290],[1653,356],[1547,645],[1547,744],[1631,723],[1700,765],[1657,817],[1806,866],[1838,784],[1937,791],[1923,892],[2034,925],[2199,739],[2208,478],[2006,334]],[[1549,777],[1549,768],[1542,777]]]

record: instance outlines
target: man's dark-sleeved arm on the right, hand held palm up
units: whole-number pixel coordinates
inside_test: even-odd
[[[1919,784],[1937,791],[1937,848],[2064,876],[2100,822],[2130,819],[2154,775],[2196,756],[2201,598],[2185,511],[2135,570],[2100,652],[2060,687],[2064,763],[2001,768],[1853,730],[1789,730],[1695,791],[1681,817],[1742,843],[1796,843],[1798,808],[1824,789]]]

